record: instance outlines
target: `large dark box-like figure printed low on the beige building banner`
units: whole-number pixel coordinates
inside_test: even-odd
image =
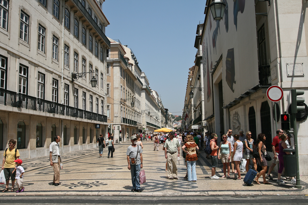
[[[226,82],[229,85],[229,88],[234,93],[233,83],[235,81],[235,66],[234,66],[234,48],[229,49],[226,57]]]

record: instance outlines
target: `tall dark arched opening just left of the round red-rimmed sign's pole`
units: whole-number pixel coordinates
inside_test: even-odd
[[[271,127],[271,116],[270,106],[267,101],[262,102],[260,109],[261,116],[261,132],[265,134],[265,146],[266,151],[272,152],[272,127]]]

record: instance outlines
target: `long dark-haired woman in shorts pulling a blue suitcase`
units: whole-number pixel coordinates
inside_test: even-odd
[[[266,170],[267,170],[267,162],[266,162],[265,157],[263,155],[263,153],[266,154],[266,147],[263,143],[263,142],[265,142],[265,139],[266,139],[265,134],[263,134],[263,133],[258,134],[258,138],[257,138],[257,146],[258,147],[257,148],[258,148],[259,157],[257,158],[257,160],[258,160],[259,165],[261,165],[262,170],[259,172],[259,174],[257,175],[257,177],[253,181],[256,184],[261,184],[259,182],[260,176],[263,176],[263,183],[264,184],[269,183],[268,181],[266,181],[266,177],[265,177],[265,173],[266,173]]]

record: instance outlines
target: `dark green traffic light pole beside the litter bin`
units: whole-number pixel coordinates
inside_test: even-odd
[[[299,179],[299,160],[298,160],[298,142],[297,142],[297,124],[296,124],[296,113],[297,113],[297,99],[296,99],[296,89],[291,89],[291,106],[292,106],[292,117],[293,121],[293,135],[294,135],[294,148],[296,156],[296,185],[295,188],[301,189],[301,180]]]

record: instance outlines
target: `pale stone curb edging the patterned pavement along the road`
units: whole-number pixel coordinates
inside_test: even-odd
[[[308,195],[308,191],[205,191],[205,192],[124,192],[124,191],[63,191],[63,192],[23,192],[1,193],[0,196],[217,196],[217,195]]]

